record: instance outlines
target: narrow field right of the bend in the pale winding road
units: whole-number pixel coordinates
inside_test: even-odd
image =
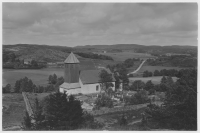
[[[154,72],[155,70],[162,70],[162,69],[176,69],[176,70],[180,70],[183,68],[180,67],[165,67],[165,66],[148,66],[148,65],[144,65],[141,67],[141,69],[137,72],[137,73],[143,73],[144,71],[149,71],[149,72]]]

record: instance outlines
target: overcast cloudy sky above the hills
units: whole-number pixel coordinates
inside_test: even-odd
[[[3,3],[3,44],[197,45],[197,3]]]

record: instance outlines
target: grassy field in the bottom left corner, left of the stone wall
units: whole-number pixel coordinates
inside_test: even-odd
[[[25,103],[22,94],[3,94],[3,129],[21,126],[25,114]]]

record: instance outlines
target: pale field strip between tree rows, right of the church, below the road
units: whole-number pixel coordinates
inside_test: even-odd
[[[160,81],[162,79],[162,76],[153,76],[153,77],[132,77],[129,78],[129,84],[131,85],[135,80],[141,80],[142,82],[147,82],[151,80],[153,84],[160,84]],[[177,77],[172,77],[173,81],[175,82],[177,80]]]

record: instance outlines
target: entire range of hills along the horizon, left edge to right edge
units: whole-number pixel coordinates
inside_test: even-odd
[[[3,51],[15,53],[19,59],[32,58],[35,60],[56,62],[63,61],[68,54],[73,52],[96,52],[96,51],[130,51],[136,53],[149,53],[152,55],[165,53],[191,54],[197,57],[197,46],[144,46],[138,44],[115,44],[115,45],[85,45],[77,47],[49,46],[36,44],[3,45]],[[77,55],[78,58],[81,58]]]

